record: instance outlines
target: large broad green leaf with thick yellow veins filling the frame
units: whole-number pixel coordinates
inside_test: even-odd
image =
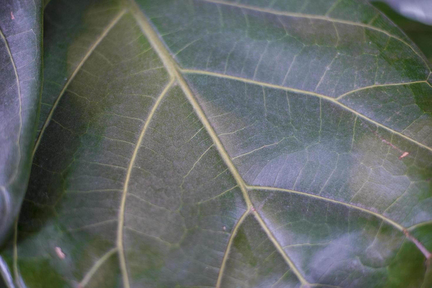
[[[18,286],[428,287],[431,72],[372,6],[51,1],[45,29]]]

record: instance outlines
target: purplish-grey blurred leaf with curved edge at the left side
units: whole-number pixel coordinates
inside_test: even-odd
[[[0,5],[0,244],[18,216],[32,164],[42,80],[40,2]]]

